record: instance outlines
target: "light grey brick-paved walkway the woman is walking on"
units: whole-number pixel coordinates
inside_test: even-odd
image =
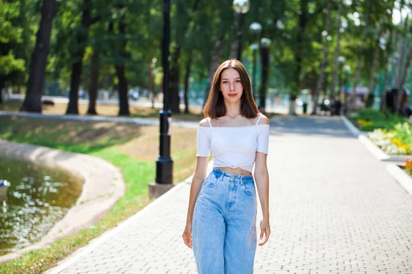
[[[268,154],[272,235],[254,273],[412,273],[412,198],[338,117],[275,117]],[[181,239],[189,190],[176,186],[47,274],[196,273]]]

